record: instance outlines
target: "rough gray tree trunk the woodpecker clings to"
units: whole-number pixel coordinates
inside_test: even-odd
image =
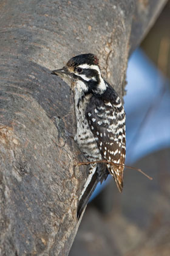
[[[70,88],[50,71],[98,55],[124,95],[129,54],[166,0],[1,0],[0,255],[67,255],[87,178],[66,130],[75,132]]]

